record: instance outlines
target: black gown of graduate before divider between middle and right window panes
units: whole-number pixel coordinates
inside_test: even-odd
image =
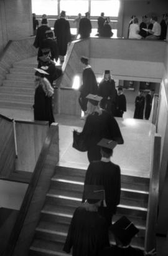
[[[90,37],[90,33],[91,33],[90,19],[88,19],[87,17],[83,17],[82,19],[80,19],[80,24],[79,24],[80,38],[81,39],[88,38]]]

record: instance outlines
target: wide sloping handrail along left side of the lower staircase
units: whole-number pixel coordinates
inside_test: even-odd
[[[9,239],[7,249],[4,252],[4,256],[12,256],[12,252],[14,251],[14,248],[16,246],[17,239],[19,238],[22,225],[24,224],[24,220],[26,219],[26,214],[29,209],[32,197],[34,195],[35,188],[37,186],[37,182],[39,181],[40,174],[44,167],[45,159],[47,158],[52,139],[55,135],[55,126],[58,126],[58,124],[51,124],[45,138],[44,145],[40,152],[39,159],[37,160],[37,164],[35,165],[34,173],[32,174],[29,187],[27,188],[26,195],[24,196],[24,200],[22,202],[19,215],[17,216],[16,223],[14,225],[14,228],[12,229],[11,237]]]

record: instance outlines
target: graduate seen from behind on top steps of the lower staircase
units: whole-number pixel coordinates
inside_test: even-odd
[[[91,162],[85,175],[85,185],[103,185],[105,188],[106,207],[101,206],[99,212],[105,217],[109,226],[112,223],[113,214],[116,214],[121,193],[121,170],[119,165],[110,161],[116,144],[117,142],[113,140],[100,140],[98,145],[101,147],[101,160]],[[82,201],[85,202],[85,191]]]

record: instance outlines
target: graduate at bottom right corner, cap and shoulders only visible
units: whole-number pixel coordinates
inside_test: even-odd
[[[134,226],[127,217],[123,216],[117,220],[110,228],[116,240],[116,245],[106,247],[98,256],[149,256],[156,255],[156,250],[144,252],[141,249],[136,249],[130,245],[131,239],[139,230]]]

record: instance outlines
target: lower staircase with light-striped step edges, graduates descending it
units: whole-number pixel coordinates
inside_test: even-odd
[[[46,195],[29,255],[67,255],[63,253],[62,248],[73,212],[81,204],[84,179],[83,169],[55,167],[55,175]],[[132,245],[141,249],[144,248],[148,195],[149,179],[121,175],[121,200],[113,221],[122,215],[132,220],[139,228]],[[110,240],[113,244],[112,235]]]

